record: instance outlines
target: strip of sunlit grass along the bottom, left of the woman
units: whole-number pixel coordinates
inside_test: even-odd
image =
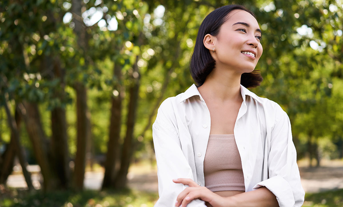
[[[13,194],[19,193],[17,196]],[[82,193],[72,191],[55,191],[44,194],[43,192],[11,192],[8,197],[1,199],[2,207],[152,207],[157,200],[157,193],[145,193],[134,190],[118,191],[91,191]]]

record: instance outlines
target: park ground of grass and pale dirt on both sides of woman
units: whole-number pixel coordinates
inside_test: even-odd
[[[306,206],[343,206],[343,160],[323,160],[320,167],[307,167],[308,161],[298,162],[301,184],[306,192]],[[36,188],[40,187],[38,166],[30,166]],[[36,171],[36,172],[35,172]],[[40,190],[28,193],[20,171],[13,172],[7,186],[0,186],[0,206],[3,207],[149,207],[158,199],[157,168],[155,163],[134,163],[128,173],[128,189],[100,190],[104,171],[95,166],[85,174],[82,193],[58,191],[43,194]]]

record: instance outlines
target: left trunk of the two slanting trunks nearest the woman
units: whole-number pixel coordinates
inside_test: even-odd
[[[111,117],[109,126],[109,139],[107,143],[107,154],[105,161],[105,175],[103,181],[103,189],[114,186],[115,178],[115,165],[119,150],[119,139],[120,139],[120,128],[121,128],[121,67],[119,63],[115,63],[114,75],[117,78],[117,89],[118,94],[113,94],[112,96],[112,107],[111,107]]]

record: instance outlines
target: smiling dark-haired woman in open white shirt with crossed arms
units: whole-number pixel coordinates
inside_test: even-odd
[[[153,124],[155,206],[301,206],[287,114],[246,87],[262,55],[253,13],[229,5],[202,22],[190,70],[196,85],[166,99]],[[177,179],[178,178],[178,179]]]

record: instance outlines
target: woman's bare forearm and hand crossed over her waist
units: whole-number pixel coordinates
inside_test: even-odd
[[[275,195],[266,187],[261,187],[250,192],[240,193],[230,197],[221,197],[206,187],[198,186],[191,179],[179,178],[174,179],[173,181],[175,183],[182,183],[190,186],[179,194],[176,199],[177,203],[175,206],[182,205],[182,207],[185,207],[191,200],[196,198],[208,202],[212,207],[279,206]]]

